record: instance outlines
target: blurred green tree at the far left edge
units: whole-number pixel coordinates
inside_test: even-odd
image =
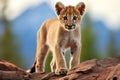
[[[10,61],[17,66],[23,66],[23,58],[19,51],[19,42],[16,40],[15,36],[11,31],[11,23],[5,16],[5,9],[7,7],[7,0],[4,2],[4,7],[1,11],[2,13],[2,24],[4,26],[4,33],[0,39],[0,58]]]

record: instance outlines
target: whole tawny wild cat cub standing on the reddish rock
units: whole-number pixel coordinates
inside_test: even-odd
[[[45,21],[37,33],[37,51],[35,63],[30,72],[43,72],[44,60],[48,49],[53,52],[50,63],[51,71],[55,74],[66,74],[64,51],[71,50],[69,68],[79,64],[81,52],[80,21],[85,9],[83,2],[74,6],[64,6],[61,2],[55,5],[58,18]]]

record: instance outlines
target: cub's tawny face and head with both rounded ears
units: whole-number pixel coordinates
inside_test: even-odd
[[[80,24],[85,4],[80,2],[76,6],[64,6],[61,2],[57,2],[55,8],[60,23],[66,30],[70,31]]]

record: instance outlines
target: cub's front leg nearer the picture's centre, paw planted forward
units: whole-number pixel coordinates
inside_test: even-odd
[[[62,48],[59,45],[55,45],[53,55],[53,58],[55,57],[56,59],[55,74],[67,74],[65,58],[62,52]]]

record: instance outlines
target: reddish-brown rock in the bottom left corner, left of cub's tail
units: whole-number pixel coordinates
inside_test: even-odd
[[[0,80],[22,80],[27,74],[14,64],[0,59]]]

